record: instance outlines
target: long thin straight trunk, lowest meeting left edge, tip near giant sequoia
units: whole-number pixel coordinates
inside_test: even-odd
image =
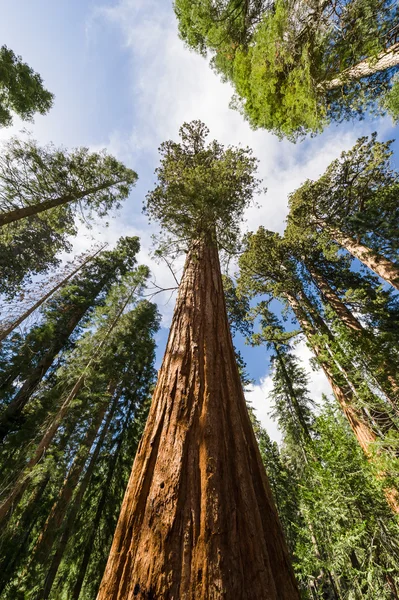
[[[135,291],[136,291],[136,287],[134,288],[134,290],[132,291],[132,293],[129,295],[129,297],[127,298],[126,302],[124,302],[123,306],[118,311],[118,314],[116,315],[115,319],[112,321],[111,325],[107,329],[104,338],[98,344],[98,346],[97,346],[94,354],[92,355],[92,357],[90,358],[89,362],[87,363],[87,365],[86,365],[83,373],[79,376],[79,378],[75,382],[75,385],[73,386],[73,388],[70,391],[70,393],[68,394],[67,398],[65,399],[65,401],[61,405],[61,408],[59,409],[58,413],[54,417],[52,423],[47,428],[47,430],[44,433],[41,441],[37,445],[36,450],[35,450],[32,458],[28,461],[25,469],[19,475],[19,477],[18,477],[17,481],[15,482],[15,485],[14,485],[13,489],[11,490],[10,494],[4,500],[4,502],[0,505],[0,523],[6,518],[8,511],[10,510],[10,508],[12,507],[12,505],[13,505],[13,503],[15,501],[15,498],[17,498],[19,496],[21,489],[23,489],[23,488],[25,489],[26,486],[28,485],[29,475],[30,475],[32,469],[41,460],[41,458],[44,456],[44,453],[46,452],[47,448],[51,444],[51,442],[52,442],[55,434],[58,431],[58,428],[59,428],[60,424],[62,423],[63,418],[65,417],[65,415],[67,414],[67,412],[69,410],[69,407],[70,407],[71,403],[76,398],[76,396],[78,395],[81,387],[85,383],[88,370],[90,369],[90,367],[93,365],[93,363],[100,356],[103,346],[107,342],[108,337],[111,334],[112,330],[114,329],[114,327],[118,323],[118,321],[119,321],[120,317],[122,316],[123,311],[125,310],[126,306],[131,301],[132,296],[135,293]]]

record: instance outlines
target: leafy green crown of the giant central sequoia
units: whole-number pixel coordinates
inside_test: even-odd
[[[208,134],[203,123],[192,121],[180,128],[180,142],[161,144],[158,182],[144,210],[176,250],[205,239],[233,252],[244,210],[259,190],[258,161],[249,148],[206,144]]]

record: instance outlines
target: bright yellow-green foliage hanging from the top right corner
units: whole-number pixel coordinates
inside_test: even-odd
[[[365,59],[372,65],[389,46],[398,15],[390,0],[176,0],[175,11],[181,37],[211,52],[212,67],[235,88],[231,106],[254,128],[296,140],[331,121],[379,113],[390,94],[397,67],[363,77],[348,71]]]

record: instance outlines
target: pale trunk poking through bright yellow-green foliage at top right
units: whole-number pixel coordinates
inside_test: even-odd
[[[342,71],[334,79],[323,81],[318,87],[324,90],[335,90],[348,83],[348,81],[356,81],[363,77],[374,75],[374,73],[378,73],[379,71],[391,69],[397,65],[399,65],[399,42],[396,42],[390,48],[382,50],[376,57],[365,58],[357,63],[357,65],[345,69],[345,71]]]

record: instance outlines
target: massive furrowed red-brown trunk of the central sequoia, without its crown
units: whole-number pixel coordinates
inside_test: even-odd
[[[98,600],[299,599],[217,249],[193,245]]]

